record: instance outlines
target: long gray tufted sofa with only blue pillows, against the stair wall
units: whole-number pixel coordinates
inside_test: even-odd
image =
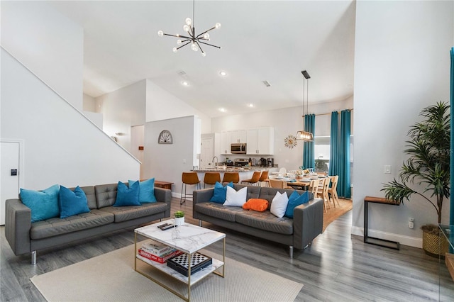
[[[89,213],[35,223],[31,223],[31,209],[20,199],[6,200],[6,240],[15,255],[31,252],[32,264],[36,264],[37,250],[170,217],[170,190],[155,188],[155,203],[114,207],[117,186],[83,186],[81,189],[87,195]]]

